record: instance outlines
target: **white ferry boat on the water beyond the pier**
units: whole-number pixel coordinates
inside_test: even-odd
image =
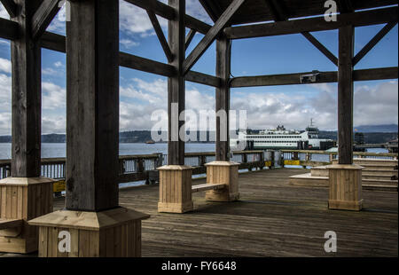
[[[231,138],[231,149],[238,145],[246,145],[246,150],[257,149],[299,149],[299,150],[327,150],[335,145],[332,139],[318,138],[319,130],[310,121],[306,130],[286,130],[284,125],[277,129],[239,131],[238,138]]]

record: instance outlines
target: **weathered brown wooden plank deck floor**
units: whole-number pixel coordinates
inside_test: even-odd
[[[363,211],[328,210],[327,188],[289,185],[301,172],[241,174],[238,202],[194,193],[188,214],[158,213],[158,185],[121,190],[120,203],[151,215],[143,222],[143,256],[398,256],[397,193],[364,191]],[[325,253],[326,231],[337,233],[336,254]]]

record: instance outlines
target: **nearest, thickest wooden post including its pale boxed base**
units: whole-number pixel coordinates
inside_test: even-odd
[[[81,0],[70,7],[66,210],[29,224],[40,226],[40,256],[140,256],[141,220],[148,216],[118,201],[119,1]],[[59,232],[67,232],[70,253],[59,249]]]

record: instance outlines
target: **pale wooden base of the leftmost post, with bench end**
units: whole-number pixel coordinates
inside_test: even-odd
[[[54,180],[43,177],[7,177],[0,181],[0,252],[37,251],[38,228],[27,224],[52,212]]]

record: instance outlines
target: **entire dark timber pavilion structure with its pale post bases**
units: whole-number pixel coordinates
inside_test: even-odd
[[[395,79],[397,67],[354,66],[395,27],[397,1],[337,0],[337,20],[327,21],[324,0],[199,0],[213,26],[187,15],[185,0],[126,1],[147,11],[168,64],[119,51],[118,0],[69,1],[66,36],[46,31],[59,0],[1,0],[11,20],[0,19],[0,37],[12,41],[12,177],[0,181],[1,251],[38,248],[46,256],[48,249],[57,249],[60,233],[68,232],[71,249],[59,256],[139,256],[141,220],[147,216],[118,205],[119,67],[168,77],[169,118],[172,104],[178,104],[179,114],[184,111],[185,81],[215,87],[215,111],[228,114],[231,88],[301,84],[301,76],[310,74],[231,78],[231,43],[250,37],[304,35],[338,67],[319,72],[313,82],[338,83],[340,156],[339,164],[330,167],[329,207],[362,208],[361,167],[352,163],[353,85]],[[168,20],[168,37],[156,15]],[[377,24],[386,26],[355,56],[355,27]],[[310,34],[331,29],[339,30],[338,57]],[[186,53],[196,33],[205,36]],[[192,71],[214,42],[216,74]],[[40,177],[41,48],[66,52],[66,208],[57,212],[51,212],[51,180]],[[159,211],[181,213],[192,210],[191,168],[184,166],[184,141],[170,137],[172,128],[184,122],[168,123],[168,166],[160,169]],[[228,124],[216,121],[216,161],[207,166],[207,183],[225,186],[208,191],[208,200],[239,197],[237,165],[229,159],[229,141],[220,137]],[[115,251],[115,240],[126,246]]]

